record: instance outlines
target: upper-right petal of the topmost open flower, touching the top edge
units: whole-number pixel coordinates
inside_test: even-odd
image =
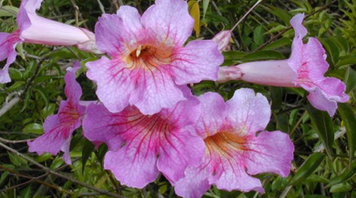
[[[144,28],[158,43],[181,47],[192,34],[194,20],[183,0],[156,0],[141,18]]]

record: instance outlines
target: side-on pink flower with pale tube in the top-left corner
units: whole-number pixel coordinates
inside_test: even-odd
[[[95,45],[93,32],[56,22],[36,14],[43,0],[23,0],[17,15],[19,29],[12,34],[0,32],[0,61],[7,58],[0,71],[0,83],[10,82],[9,66],[15,61],[17,43],[76,46],[93,53],[101,53]]]

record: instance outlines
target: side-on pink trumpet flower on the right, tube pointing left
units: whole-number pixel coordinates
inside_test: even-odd
[[[292,53],[286,60],[247,62],[232,67],[222,67],[219,82],[244,80],[247,82],[284,86],[303,87],[309,91],[308,100],[317,109],[335,114],[337,103],[345,103],[349,97],[345,93],[345,84],[331,77],[324,77],[329,68],[325,50],[315,38],[309,38],[307,44],[303,37],[307,29],[302,25],[304,14],[295,15],[290,23],[295,31]]]

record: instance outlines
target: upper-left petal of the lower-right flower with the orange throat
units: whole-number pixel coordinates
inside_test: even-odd
[[[227,106],[224,98],[218,93],[207,92],[199,96],[199,101],[201,115],[191,129],[202,138],[213,136],[223,128],[225,122]]]

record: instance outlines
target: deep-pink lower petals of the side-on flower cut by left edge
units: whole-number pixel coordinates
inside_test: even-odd
[[[0,32],[0,61],[7,59],[4,67],[0,69],[0,83],[8,83],[11,81],[9,67],[16,59],[17,54],[15,47],[17,43],[20,42],[18,30],[12,34]]]

